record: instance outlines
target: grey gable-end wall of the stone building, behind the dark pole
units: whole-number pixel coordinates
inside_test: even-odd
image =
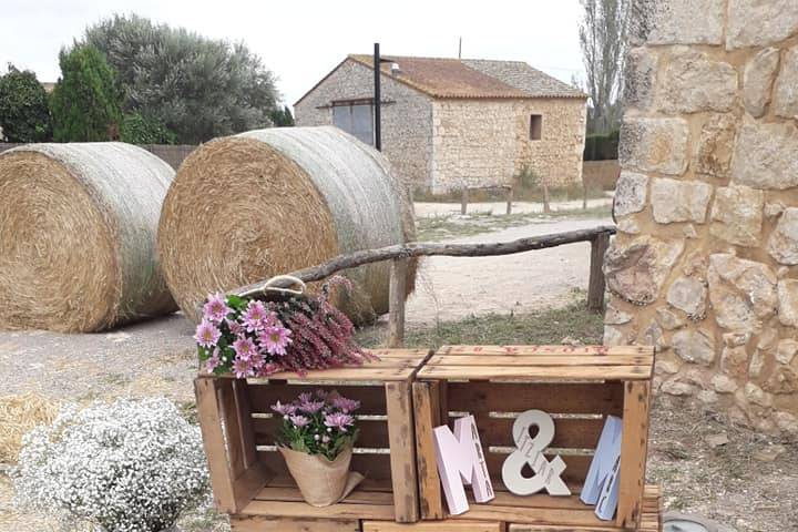
[[[382,75],[382,153],[396,175],[413,187],[428,187],[432,170],[431,99]],[[338,100],[374,98],[374,71],[347,60],[294,106],[296,125],[331,125]]]

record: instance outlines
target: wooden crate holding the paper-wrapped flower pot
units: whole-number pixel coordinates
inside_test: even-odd
[[[197,412],[217,508],[234,531],[359,530],[359,520],[419,519],[411,379],[428,350],[372,351],[359,367],[276,374],[268,379],[200,376]],[[282,423],[270,406],[303,391],[336,389],[357,399],[360,437],[352,470],[366,480],[344,501],[307,504],[274,447]]]

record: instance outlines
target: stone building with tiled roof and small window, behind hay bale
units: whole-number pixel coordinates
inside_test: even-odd
[[[416,188],[582,178],[586,95],[516,61],[383,57],[382,151]],[[349,55],[295,104],[297,125],[374,142],[372,58]]]

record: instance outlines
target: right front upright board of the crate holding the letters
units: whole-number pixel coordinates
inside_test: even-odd
[[[618,526],[634,529],[641,516],[648,446],[649,382],[626,382],[621,439]]]

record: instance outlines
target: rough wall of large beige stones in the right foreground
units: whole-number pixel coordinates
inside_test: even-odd
[[[798,4],[635,4],[605,342],[655,388],[798,433]]]

